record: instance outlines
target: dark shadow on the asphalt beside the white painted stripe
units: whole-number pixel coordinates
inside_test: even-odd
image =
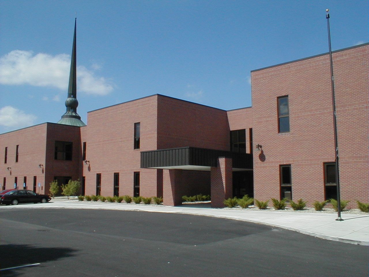
[[[24,274],[27,267],[3,270],[9,267],[25,264],[45,263],[64,257],[75,256],[76,249],[68,247],[35,247],[30,244],[1,244],[0,245],[0,276],[16,277]]]

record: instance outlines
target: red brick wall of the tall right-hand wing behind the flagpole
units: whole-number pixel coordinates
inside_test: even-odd
[[[333,54],[341,199],[369,201],[369,46]],[[330,63],[320,55],[253,71],[255,198],[279,198],[279,165],[291,164],[293,199],[324,200],[323,163],[334,161]],[[277,97],[289,97],[289,133],[278,133]]]

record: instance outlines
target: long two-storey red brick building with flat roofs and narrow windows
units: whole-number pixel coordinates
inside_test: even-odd
[[[369,202],[368,56],[368,44],[333,53],[340,195],[351,207]],[[336,197],[328,55],[252,71],[251,83],[252,107],[226,111],[156,94],[91,111],[86,126],[70,82],[59,124],[0,134],[1,188],[25,183],[48,193],[54,179],[79,178],[81,194],[180,205],[201,193],[214,207],[245,194],[310,206]]]

